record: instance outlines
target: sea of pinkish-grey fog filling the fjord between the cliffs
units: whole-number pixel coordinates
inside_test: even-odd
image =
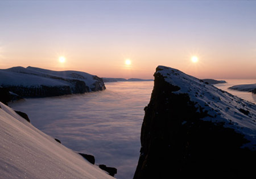
[[[256,103],[250,92],[227,90],[235,84],[256,80],[226,80],[216,87]],[[107,90],[9,104],[25,112],[31,123],[65,146],[92,154],[97,164],[118,169],[115,177],[133,178],[141,147],[144,106],[150,100],[154,82],[106,83]]]

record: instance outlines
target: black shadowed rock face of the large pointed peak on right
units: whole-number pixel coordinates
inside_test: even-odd
[[[242,147],[249,140],[225,122],[202,120],[220,114],[216,111],[213,116],[214,110],[204,110],[189,92],[177,93],[180,87],[167,82],[158,73],[161,70],[156,69],[154,90],[144,108],[141,155],[134,178],[254,177],[255,149]],[[174,74],[180,75],[174,71],[170,78]]]

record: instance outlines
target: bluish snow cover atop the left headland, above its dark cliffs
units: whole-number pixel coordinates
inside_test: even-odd
[[[94,75],[81,71],[52,71],[36,67],[13,67],[0,70],[0,84],[2,86],[69,86],[63,79],[77,79],[84,81],[86,86],[94,88]]]

